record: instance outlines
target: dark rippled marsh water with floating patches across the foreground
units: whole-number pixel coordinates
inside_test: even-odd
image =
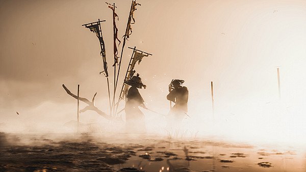
[[[128,134],[0,134],[0,171],[306,171],[297,147]]]

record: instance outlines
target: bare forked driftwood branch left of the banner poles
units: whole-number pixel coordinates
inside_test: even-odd
[[[65,91],[67,92],[67,94],[69,94],[70,96],[72,96],[75,99],[78,99],[78,96],[75,96],[74,94],[72,94],[67,87],[63,84],[62,85],[63,88],[65,89]],[[108,114],[106,114],[105,112],[101,111],[100,109],[98,109],[96,106],[94,106],[94,97],[97,95],[97,93],[94,94],[92,101],[89,101],[86,98],[83,97],[79,97],[79,100],[88,104],[88,106],[84,107],[82,110],[80,110],[80,113],[85,112],[87,110],[93,110],[95,112],[97,112],[100,116],[104,117],[107,120],[115,120],[115,118],[109,116]]]

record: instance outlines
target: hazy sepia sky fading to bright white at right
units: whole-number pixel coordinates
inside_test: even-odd
[[[220,131],[235,130],[239,124],[257,133],[257,128],[270,130],[272,123],[277,132],[292,120],[287,132],[306,133],[301,124],[306,120],[305,1],[137,2],[141,6],[134,13],[136,23],[126,42],[120,77],[132,54],[128,46],[153,54],[135,67],[147,85],[140,91],[147,107],[167,114],[168,84],[184,79],[190,123],[210,126],[213,81]],[[109,3],[118,7],[121,39],[131,2]],[[76,101],[65,93],[63,83],[74,94],[80,84],[80,95],[88,99],[97,92],[96,106],[108,111],[106,78],[99,75],[103,66],[98,40],[82,26],[98,18],[107,20],[101,26],[113,88],[112,13],[105,1],[0,0],[0,123],[40,128],[75,120]],[[81,118],[84,123],[103,121],[95,112]]]

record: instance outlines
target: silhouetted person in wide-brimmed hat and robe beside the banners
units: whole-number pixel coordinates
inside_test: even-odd
[[[126,130],[145,132],[144,114],[139,109],[139,106],[145,108],[145,105],[143,104],[144,100],[138,89],[142,89],[142,87],[145,89],[146,85],[141,82],[138,73],[137,76],[133,76],[130,80],[124,81],[124,83],[132,86],[127,92],[127,102],[125,103]]]

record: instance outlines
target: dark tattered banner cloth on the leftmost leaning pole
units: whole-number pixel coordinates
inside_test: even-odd
[[[103,68],[104,68],[106,77],[108,77],[105,44],[104,44],[104,40],[102,37],[102,32],[99,29],[99,23],[93,24],[93,25],[87,25],[86,27],[89,28],[91,32],[94,32],[99,39],[100,47],[101,47],[100,55],[102,55],[102,59],[103,59]]]

